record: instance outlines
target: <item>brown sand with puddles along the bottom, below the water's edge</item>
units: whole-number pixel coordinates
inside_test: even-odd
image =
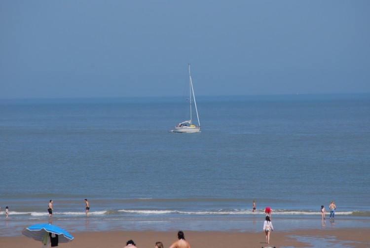
[[[345,228],[332,230],[296,230],[290,232],[274,231],[270,244],[265,243],[265,235],[260,233],[241,232],[209,232],[186,231],[185,239],[192,248],[224,248],[224,247],[353,247],[369,248],[370,228]],[[78,232],[73,233],[74,240],[69,243],[59,243],[66,248],[122,248],[132,239],[138,248],[152,248],[160,241],[164,247],[169,247],[177,239],[177,230],[173,232],[156,231],[109,231],[109,232]],[[3,248],[39,248],[40,242],[24,236],[0,237],[0,247]]]

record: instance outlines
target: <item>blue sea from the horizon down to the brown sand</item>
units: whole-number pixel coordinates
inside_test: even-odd
[[[370,226],[369,93],[196,104],[201,132],[179,134],[181,97],[0,99],[0,236],[36,223],[260,232],[265,207],[276,230]]]

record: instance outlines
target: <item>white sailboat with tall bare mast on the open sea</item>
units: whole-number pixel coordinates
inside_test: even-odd
[[[183,122],[177,124],[175,129],[170,131],[170,132],[174,132],[174,133],[198,133],[198,132],[200,132],[199,115],[198,115],[198,109],[196,107],[196,102],[195,102],[193,82],[191,81],[190,64],[188,64],[187,67],[189,69],[190,120],[183,121]],[[194,100],[194,106],[195,106],[196,118],[198,120],[198,125],[193,124],[192,105],[191,105],[193,100]]]

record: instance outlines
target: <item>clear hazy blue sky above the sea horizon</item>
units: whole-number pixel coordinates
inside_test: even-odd
[[[0,99],[370,92],[370,0],[0,0]]]

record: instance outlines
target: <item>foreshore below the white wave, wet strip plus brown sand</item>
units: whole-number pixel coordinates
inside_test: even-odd
[[[273,216],[274,231],[270,245],[265,243],[261,218],[186,218],[186,219],[84,219],[37,218],[32,220],[0,219],[0,247],[40,247],[40,242],[21,234],[23,228],[48,223],[67,230],[72,242],[60,247],[122,248],[132,239],[138,248],[153,247],[162,242],[169,247],[183,230],[192,248],[281,247],[281,248],[369,248],[369,218],[338,218],[335,222],[321,218]],[[107,245],[107,242],[109,244]]]

